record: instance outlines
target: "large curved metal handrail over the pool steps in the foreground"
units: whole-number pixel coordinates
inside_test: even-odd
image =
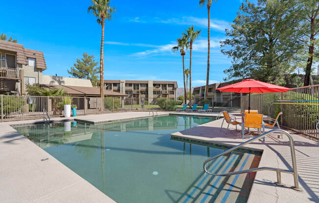
[[[293,162],[293,170],[287,170],[287,169],[280,169],[280,168],[273,168],[273,167],[259,167],[259,168],[251,168],[248,170],[241,170],[241,171],[234,171],[234,172],[229,172],[229,173],[221,173],[221,174],[214,174],[214,173],[210,173],[207,171],[206,169],[206,164],[220,156],[223,156],[225,154],[228,154],[242,146],[245,146],[246,144],[249,144],[251,142],[254,142],[258,139],[264,138],[266,136],[271,135],[273,132],[280,132],[283,133],[285,135],[287,135],[289,142],[290,142],[290,153],[291,153],[291,157],[292,157],[292,162]],[[212,158],[207,159],[204,164],[203,164],[203,168],[205,173],[209,174],[209,175],[213,175],[213,176],[231,176],[231,175],[236,175],[236,174],[242,174],[242,173],[250,173],[250,172],[255,172],[255,171],[262,171],[262,170],[271,170],[271,171],[276,171],[277,172],[277,183],[281,184],[281,174],[280,172],[283,173],[289,173],[289,174],[293,174],[294,175],[294,182],[295,182],[295,186],[292,187],[295,190],[301,191],[301,189],[299,188],[299,183],[298,183],[298,173],[297,173],[297,164],[296,164],[296,155],[295,155],[295,145],[294,145],[294,140],[293,137],[285,130],[281,130],[281,129],[274,129],[274,130],[270,130],[269,132],[263,133],[255,138],[252,138],[249,141],[246,141],[244,143],[241,143],[237,146],[234,146],[228,150],[226,150],[225,152],[218,154]]]

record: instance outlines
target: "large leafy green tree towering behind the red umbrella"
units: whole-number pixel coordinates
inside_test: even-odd
[[[296,68],[295,18],[286,15],[289,2],[258,0],[255,5],[242,3],[237,17],[226,30],[229,39],[221,41],[222,53],[232,59],[232,66],[224,71],[232,78],[254,78],[284,84],[284,76]],[[285,9],[282,9],[285,8]]]

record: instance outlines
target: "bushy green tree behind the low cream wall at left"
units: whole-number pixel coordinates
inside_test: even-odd
[[[96,86],[97,83],[97,74],[99,68],[96,67],[98,62],[94,61],[93,55],[88,55],[88,53],[83,53],[83,58],[76,59],[76,63],[73,64],[74,67],[70,67],[68,74],[73,78],[82,78],[91,80],[93,86]]]

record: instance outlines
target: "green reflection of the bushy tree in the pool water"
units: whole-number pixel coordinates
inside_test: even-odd
[[[84,159],[88,160],[93,157],[96,150],[100,148],[100,136],[98,132],[94,132],[90,140],[72,143],[78,154],[83,155]]]

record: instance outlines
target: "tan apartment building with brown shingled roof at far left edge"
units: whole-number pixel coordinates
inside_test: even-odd
[[[42,83],[46,61],[41,51],[0,40],[0,93],[25,94],[25,83]]]

